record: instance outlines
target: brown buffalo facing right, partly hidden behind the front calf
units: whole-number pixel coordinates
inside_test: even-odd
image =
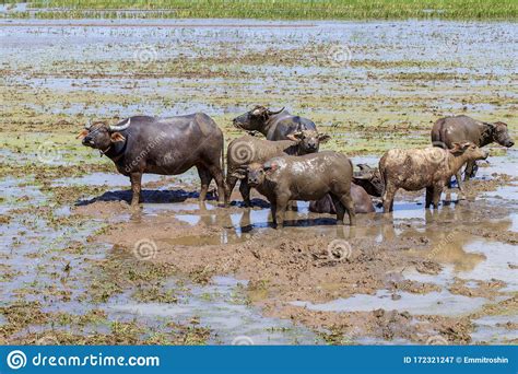
[[[302,155],[318,152],[320,142],[327,141],[330,137],[323,133],[318,133],[314,130],[303,130],[287,136],[291,140],[264,140],[250,136],[243,136],[234,139],[227,148],[226,152],[226,186],[227,197],[229,201],[232,191],[237,183],[237,177],[234,175],[239,167],[251,163],[264,163],[268,160],[283,154]],[[250,206],[250,188],[246,179],[242,179],[239,191],[245,201],[245,206]]]

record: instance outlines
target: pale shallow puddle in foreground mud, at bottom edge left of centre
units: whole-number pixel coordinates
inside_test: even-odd
[[[197,244],[195,245],[203,245]],[[174,288],[174,281],[169,281]],[[210,285],[188,285],[190,292],[176,304],[136,303],[121,297],[107,305],[108,313],[121,316],[179,320],[188,323],[198,317],[204,326],[217,331],[210,343],[231,344],[238,337],[249,337],[255,344],[319,343],[314,332],[287,320],[268,318],[260,311],[246,305],[243,288],[246,282],[227,277],[214,277]]]

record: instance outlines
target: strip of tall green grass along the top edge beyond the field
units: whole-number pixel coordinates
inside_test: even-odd
[[[9,1],[7,1],[9,2]],[[36,0],[38,17],[130,16],[115,10],[152,12],[138,17],[235,17],[269,20],[517,20],[517,0]],[[108,10],[107,12],[98,12]]]

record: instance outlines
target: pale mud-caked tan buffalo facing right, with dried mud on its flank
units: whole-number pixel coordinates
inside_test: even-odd
[[[472,142],[454,143],[450,150],[429,147],[421,150],[390,150],[379,161],[385,183],[384,212],[392,211],[399,188],[416,191],[426,188],[426,208],[438,208],[446,183],[468,161],[487,157],[487,152]]]

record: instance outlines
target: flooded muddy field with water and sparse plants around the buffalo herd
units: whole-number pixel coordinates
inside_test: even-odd
[[[198,202],[195,170],[128,178],[81,145],[89,120],[256,104],[376,166],[439,117],[518,138],[518,25],[506,22],[0,20],[0,344],[517,343],[518,151],[490,145],[438,211],[399,192],[355,227],[308,204]],[[337,252],[338,249],[338,252]]]

